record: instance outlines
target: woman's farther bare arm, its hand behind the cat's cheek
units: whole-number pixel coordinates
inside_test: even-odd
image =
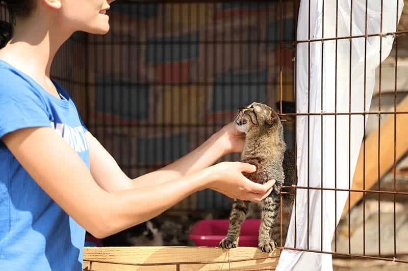
[[[92,176],[107,191],[159,185],[195,173],[213,165],[228,153],[241,152],[245,139],[244,134],[235,129],[235,124],[228,124],[186,156],[131,180],[90,132],[86,133],[86,138]]]

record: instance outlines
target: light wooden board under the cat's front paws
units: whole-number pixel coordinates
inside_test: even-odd
[[[84,270],[273,270],[279,253],[249,247],[86,247]]]

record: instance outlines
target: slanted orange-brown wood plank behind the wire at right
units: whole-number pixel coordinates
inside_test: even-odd
[[[396,112],[408,111],[408,96],[406,96],[397,106]],[[382,177],[394,165],[394,114],[389,114],[384,123],[380,126],[380,157],[379,176]],[[408,114],[396,114],[396,161],[408,152]],[[353,176],[351,189],[363,189],[363,164],[364,145],[362,144]],[[372,188],[378,182],[378,129],[370,133],[366,138],[365,155],[365,189]],[[373,190],[378,190],[373,187]],[[389,190],[389,189],[388,189]],[[351,192],[350,208],[361,198],[363,193]],[[348,200],[343,209],[342,216],[348,214]]]

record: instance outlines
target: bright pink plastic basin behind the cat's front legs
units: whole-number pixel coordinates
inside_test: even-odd
[[[195,224],[189,237],[196,246],[218,247],[228,232],[228,219],[201,220]],[[258,247],[260,219],[244,220],[241,226],[238,245],[240,247]]]

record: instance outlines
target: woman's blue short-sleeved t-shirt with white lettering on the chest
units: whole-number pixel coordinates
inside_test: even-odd
[[[62,99],[0,61],[0,139],[22,128],[52,127],[89,168],[86,128],[69,95],[54,84]],[[84,228],[37,185],[0,140],[0,269],[82,270],[84,241]]]

